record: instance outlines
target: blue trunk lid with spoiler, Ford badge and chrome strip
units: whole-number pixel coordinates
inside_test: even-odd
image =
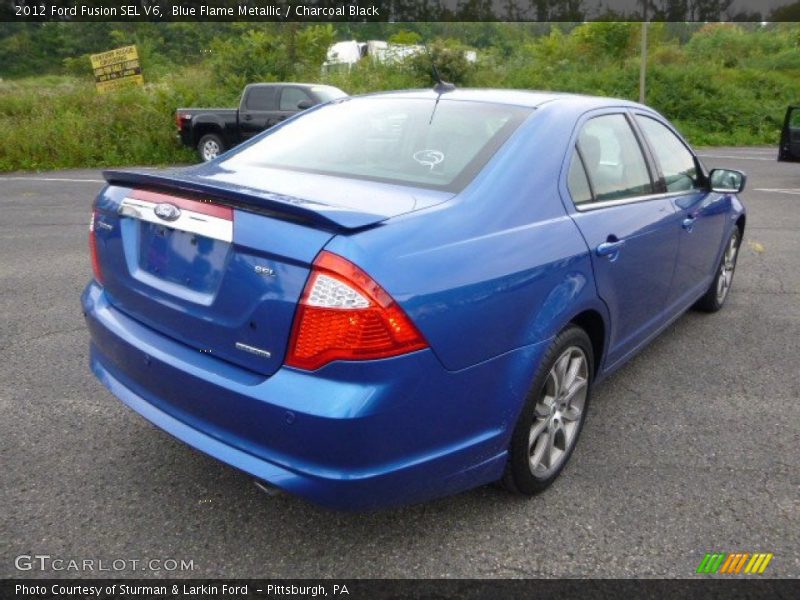
[[[283,363],[319,251],[336,233],[414,207],[395,197],[367,211],[290,195],[287,186],[254,191],[156,173],[106,177],[95,235],[110,302],[198,352],[265,376]]]

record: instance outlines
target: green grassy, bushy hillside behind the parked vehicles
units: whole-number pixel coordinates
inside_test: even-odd
[[[711,24],[679,43],[663,25],[653,25],[647,104],[695,145],[776,145],[786,106],[800,101],[800,27],[745,31]],[[483,48],[475,64],[459,58],[466,47],[460,41],[442,40],[433,50],[443,73],[463,87],[637,99],[638,27],[554,29],[510,49]],[[315,59],[296,64],[276,59],[284,50],[266,34],[226,38],[212,58],[192,66],[146,53],[146,85],[106,95],[96,93],[88,74],[0,81],[0,171],[192,162],[192,151],[175,137],[175,109],[235,106],[249,81],[318,80],[351,94],[431,85],[424,57],[395,65],[362,60],[350,71],[321,74],[326,35],[309,34],[306,54]],[[258,51],[261,62],[253,60]],[[82,64],[67,62],[71,71]]]

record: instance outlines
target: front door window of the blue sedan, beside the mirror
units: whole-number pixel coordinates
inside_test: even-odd
[[[665,125],[655,119],[637,115],[636,120],[644,131],[653,154],[661,166],[668,192],[684,192],[700,187],[700,178],[694,156],[683,142]]]

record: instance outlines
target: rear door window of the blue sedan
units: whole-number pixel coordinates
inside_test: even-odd
[[[595,200],[621,200],[653,193],[642,149],[624,115],[586,122],[578,136]]]

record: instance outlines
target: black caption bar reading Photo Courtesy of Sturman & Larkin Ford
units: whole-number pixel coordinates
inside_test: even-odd
[[[237,589],[238,588],[238,589]],[[346,593],[345,593],[346,590]],[[97,593],[99,591],[99,593]],[[4,600],[572,600],[577,598],[796,599],[800,581],[760,576],[695,579],[6,579]]]

